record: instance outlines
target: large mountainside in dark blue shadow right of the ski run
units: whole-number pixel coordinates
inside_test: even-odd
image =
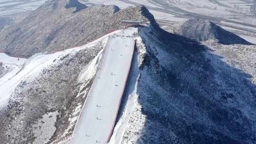
[[[121,144],[256,143],[255,45],[208,47],[153,27],[139,36]]]

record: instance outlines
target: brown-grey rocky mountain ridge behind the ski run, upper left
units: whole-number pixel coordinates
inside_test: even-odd
[[[76,8],[76,0],[48,0],[23,21],[0,34],[0,50],[15,55],[53,53],[85,45],[110,31],[123,28],[121,20],[144,19],[141,7],[119,10],[117,6]],[[67,9],[66,9],[66,8]],[[77,11],[80,9],[80,11]],[[75,13],[73,13],[75,11]]]

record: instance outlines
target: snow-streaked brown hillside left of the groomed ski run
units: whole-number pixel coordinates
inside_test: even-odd
[[[0,79],[1,144],[45,144],[70,137],[106,42],[102,37],[81,47],[17,60],[25,63]],[[5,63],[17,64],[16,58],[4,58]]]

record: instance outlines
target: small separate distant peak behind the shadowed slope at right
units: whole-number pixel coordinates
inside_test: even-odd
[[[224,30],[207,19],[189,19],[174,27],[167,27],[166,30],[197,41],[216,40],[224,45],[251,45],[243,38]]]

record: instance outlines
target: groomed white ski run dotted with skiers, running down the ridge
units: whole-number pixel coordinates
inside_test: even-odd
[[[137,28],[110,36],[71,144],[107,144],[110,140],[134,52],[135,41],[127,36],[134,32],[137,33]]]

